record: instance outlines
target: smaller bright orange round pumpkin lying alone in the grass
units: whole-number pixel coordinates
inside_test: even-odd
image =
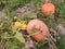
[[[55,13],[55,5],[53,3],[44,3],[41,8],[41,12],[47,15],[52,15]]]

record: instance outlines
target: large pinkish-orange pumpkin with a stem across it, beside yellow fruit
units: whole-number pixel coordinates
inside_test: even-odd
[[[32,32],[31,28],[35,26],[35,28],[37,29],[41,29],[40,30],[36,30]],[[40,20],[36,19],[36,20],[31,20],[28,24],[27,24],[27,33],[29,35],[31,35],[34,33],[34,35],[31,35],[31,37],[34,39],[36,39],[37,41],[41,41],[42,39],[44,39],[48,34],[49,34],[49,28],[48,26]]]

